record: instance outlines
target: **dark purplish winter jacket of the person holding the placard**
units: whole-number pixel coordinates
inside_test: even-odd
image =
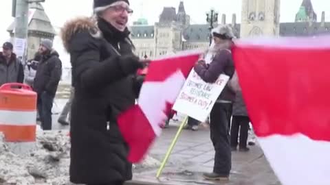
[[[234,62],[232,62],[232,54],[230,51],[222,49],[217,52],[210,64],[197,64],[195,72],[203,79],[204,82],[214,83],[217,81],[221,73],[225,73],[230,78],[234,75]],[[233,101],[235,93],[225,86],[218,100]]]

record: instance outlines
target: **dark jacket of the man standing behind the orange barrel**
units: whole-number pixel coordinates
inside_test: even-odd
[[[7,64],[5,56],[0,52],[0,86],[12,82],[23,83],[23,80],[24,69],[21,60],[12,53],[10,61]]]

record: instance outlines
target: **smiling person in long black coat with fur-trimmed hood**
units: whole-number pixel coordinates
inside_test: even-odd
[[[118,114],[135,104],[143,77],[126,27],[129,1],[94,0],[94,17],[65,23],[61,37],[72,63],[70,181],[124,184],[132,179]]]

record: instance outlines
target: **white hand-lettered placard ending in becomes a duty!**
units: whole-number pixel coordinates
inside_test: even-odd
[[[192,70],[181,88],[173,110],[199,121],[206,121],[229,78],[228,75],[220,75],[214,84],[208,84]]]

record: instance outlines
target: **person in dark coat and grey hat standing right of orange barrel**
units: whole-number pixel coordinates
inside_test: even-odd
[[[62,75],[62,62],[57,51],[52,49],[52,40],[41,41],[41,60],[36,69],[33,89],[38,95],[37,108],[43,130],[52,130],[52,107],[58,83]]]

